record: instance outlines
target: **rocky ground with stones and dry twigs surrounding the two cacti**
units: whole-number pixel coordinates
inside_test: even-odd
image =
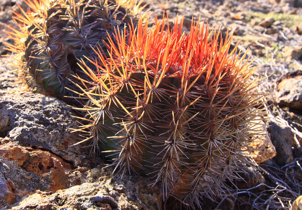
[[[21,0],[0,1],[0,40],[9,41],[4,25],[16,27],[12,11]],[[268,137],[251,155],[233,192],[217,203],[204,200],[203,209],[302,209],[302,2],[249,0],[146,0],[151,16],[169,13],[169,25],[184,15],[183,31],[191,19],[233,32],[261,75],[259,88],[267,103]],[[0,44],[1,54],[7,51]],[[111,168],[67,128],[77,128],[76,115],[52,97],[14,92],[13,60],[0,60],[0,209],[171,209],[158,186],[139,176],[113,176]],[[299,197],[299,198],[298,198]],[[296,200],[296,201],[295,201]]]

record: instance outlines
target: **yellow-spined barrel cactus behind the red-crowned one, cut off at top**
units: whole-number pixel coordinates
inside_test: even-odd
[[[68,90],[75,87],[72,74],[84,76],[77,64],[83,55],[94,59],[92,47],[105,50],[103,40],[115,28],[135,25],[146,15],[140,15],[143,7],[137,0],[24,1],[29,11],[20,7],[21,14],[14,13],[20,31],[12,27],[8,31],[14,45],[4,43],[17,62],[16,82],[60,99],[72,95]]]

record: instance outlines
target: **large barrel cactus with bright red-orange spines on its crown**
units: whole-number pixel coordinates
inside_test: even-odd
[[[186,205],[214,199],[238,178],[252,121],[264,116],[252,62],[237,46],[228,54],[231,35],[218,40],[219,30],[201,25],[185,34],[182,22],[165,29],[165,18],[156,19],[148,29],[139,21],[117,31],[117,46],[109,37],[109,58],[87,58],[97,71],[82,63],[93,83],[81,88],[89,101],[76,130],[115,173],[149,176],[165,199]]]

